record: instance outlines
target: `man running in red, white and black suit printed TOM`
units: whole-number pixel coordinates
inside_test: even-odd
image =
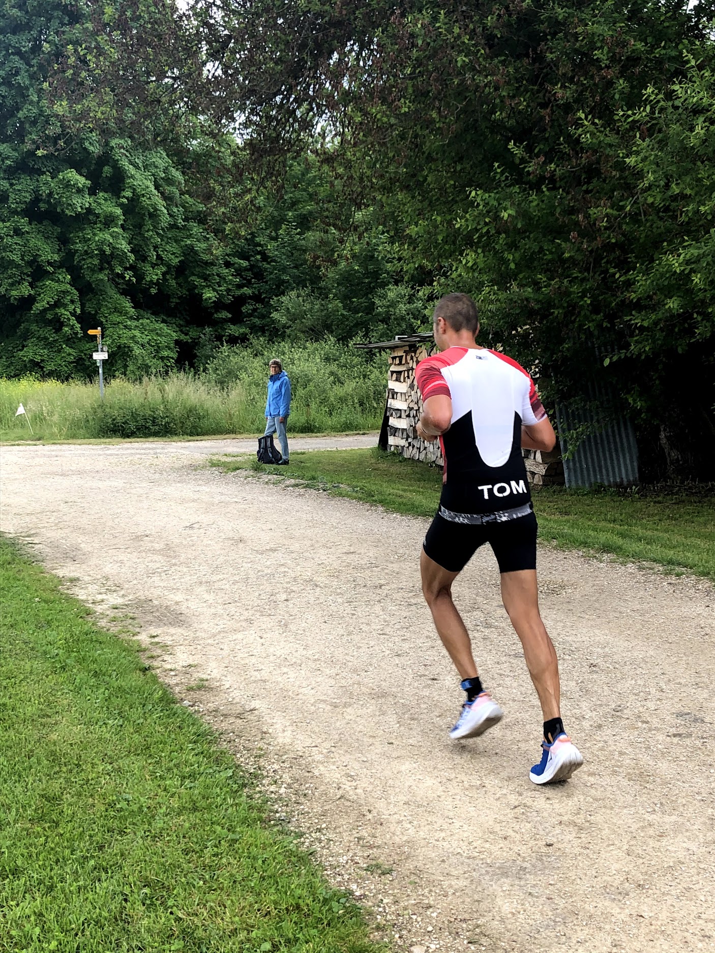
[[[424,598],[467,695],[450,738],[474,738],[503,716],[481,686],[469,634],[452,601],[455,578],[488,542],[543,712],[541,761],[529,778],[536,784],[565,781],[583,759],[563,730],[559,663],[539,613],[537,521],[521,456],[521,447],[552,450],[556,436],[531,377],[511,357],[475,342],[480,323],[469,295],[440,298],[433,330],[441,353],[417,367],[424,401],[418,435],[430,441],[439,436],[444,477],[420,569]]]

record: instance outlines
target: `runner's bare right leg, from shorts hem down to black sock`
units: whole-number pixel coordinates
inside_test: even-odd
[[[559,718],[561,686],[556,650],[539,612],[535,569],[501,574],[501,599],[521,639],[529,675],[541,701],[543,720]]]

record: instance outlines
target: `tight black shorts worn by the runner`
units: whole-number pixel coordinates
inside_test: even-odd
[[[439,513],[424,537],[424,552],[448,573],[460,573],[485,542],[494,550],[500,573],[536,569],[537,521],[533,513],[505,522],[454,523]]]

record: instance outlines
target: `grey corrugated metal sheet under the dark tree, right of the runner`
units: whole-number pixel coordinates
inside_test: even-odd
[[[630,420],[619,417],[597,433],[583,437],[573,456],[567,456],[568,441],[564,435],[583,425],[596,427],[597,420],[587,408],[568,402],[558,405],[557,420],[566,486],[629,486],[638,482],[638,446]]]

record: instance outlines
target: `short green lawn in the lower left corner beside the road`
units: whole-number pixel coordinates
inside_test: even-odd
[[[0,568],[0,950],[376,953],[133,646],[5,540]]]

